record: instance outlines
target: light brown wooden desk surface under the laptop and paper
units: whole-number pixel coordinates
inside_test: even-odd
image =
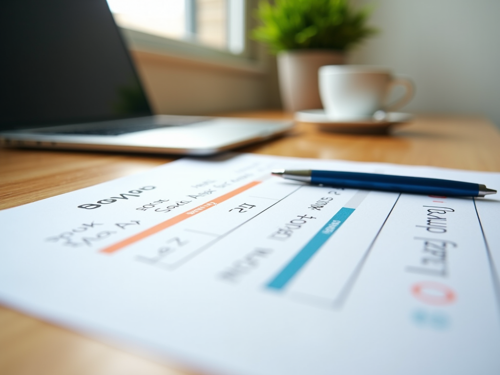
[[[281,112],[238,113],[284,118]],[[320,132],[298,124],[288,136],[245,147],[269,155],[381,161],[500,171],[500,133],[472,117],[417,117],[390,136]],[[0,149],[0,208],[61,194],[173,160],[161,155]],[[5,375],[185,374],[25,314],[0,307],[0,373]]]

